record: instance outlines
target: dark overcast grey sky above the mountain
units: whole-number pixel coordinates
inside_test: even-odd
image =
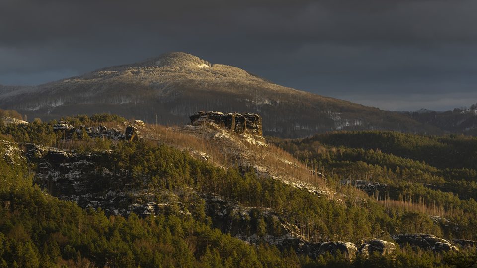
[[[1,0],[0,84],[183,51],[387,110],[477,102],[476,0]]]

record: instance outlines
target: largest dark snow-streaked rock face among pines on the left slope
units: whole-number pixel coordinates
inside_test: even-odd
[[[62,200],[82,208],[101,207],[106,215],[147,216],[167,208],[154,203],[157,199],[148,192],[133,194],[126,174],[112,174],[99,164],[111,161],[111,150],[76,154],[35,144],[23,146],[28,160],[37,164],[35,183]]]

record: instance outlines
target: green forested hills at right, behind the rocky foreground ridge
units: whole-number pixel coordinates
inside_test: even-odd
[[[452,237],[475,239],[475,137],[358,131],[269,141],[342,188],[362,189],[387,208],[427,214]]]

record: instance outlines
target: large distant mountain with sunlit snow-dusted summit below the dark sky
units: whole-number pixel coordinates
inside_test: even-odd
[[[109,112],[161,124],[188,123],[188,115],[201,110],[248,111],[262,115],[265,135],[281,137],[331,130],[448,130],[424,120],[427,113],[414,116],[323,97],[182,52],[38,86],[0,86],[0,108],[43,120]]]

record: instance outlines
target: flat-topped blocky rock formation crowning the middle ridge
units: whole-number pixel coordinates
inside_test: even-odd
[[[236,133],[248,133],[262,136],[262,118],[257,114],[245,113],[221,113],[221,112],[203,112],[189,116],[193,126],[214,122],[217,125],[234,131]]]

